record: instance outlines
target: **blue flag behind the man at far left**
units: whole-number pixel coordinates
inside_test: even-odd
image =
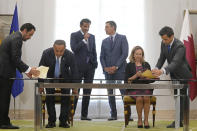
[[[17,4],[14,9],[14,15],[12,18],[12,25],[10,28],[10,34],[16,32],[19,30],[19,24],[18,24],[18,11],[17,11]],[[16,78],[21,79],[23,78],[23,75],[16,69]],[[24,87],[24,81],[23,80],[14,80],[14,83],[12,85],[12,96],[15,98],[20,93],[23,92]]]

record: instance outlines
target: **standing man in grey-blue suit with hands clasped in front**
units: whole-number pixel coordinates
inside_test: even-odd
[[[115,83],[115,80],[124,80],[126,67],[126,58],[128,56],[128,42],[125,35],[116,33],[116,23],[107,21],[105,25],[106,34],[101,46],[100,61],[106,80]],[[113,89],[108,89],[108,94],[113,94]],[[120,90],[121,95],[125,90]],[[109,105],[111,108],[111,117],[108,120],[117,120],[117,110],[115,96],[109,96]]]

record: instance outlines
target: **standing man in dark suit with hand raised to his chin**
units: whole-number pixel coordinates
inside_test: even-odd
[[[92,83],[95,69],[97,68],[97,54],[94,35],[88,33],[91,21],[82,19],[80,22],[81,30],[71,34],[71,49],[75,54],[79,70],[79,79],[84,79],[84,83]],[[79,89],[80,91],[80,89]],[[78,92],[79,92],[78,91]],[[91,89],[83,89],[84,95],[90,95]],[[75,99],[75,109],[78,98]],[[88,106],[90,96],[83,96],[81,120],[91,120],[88,118]]]

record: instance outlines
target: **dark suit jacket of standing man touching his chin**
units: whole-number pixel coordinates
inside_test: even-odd
[[[90,34],[88,38],[88,46],[83,42],[84,36],[81,31],[77,31],[71,34],[70,44],[71,49],[74,52],[75,59],[79,70],[84,70],[87,67],[87,57],[89,57],[89,63],[97,68],[97,54],[96,54],[96,45],[95,45],[95,37]]]

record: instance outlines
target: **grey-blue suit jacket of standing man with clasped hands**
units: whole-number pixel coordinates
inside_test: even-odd
[[[129,47],[125,35],[120,35],[117,33],[114,38],[113,46],[111,46],[109,37],[104,39],[102,42],[100,55],[100,61],[103,69],[105,67],[117,66],[117,73],[125,72],[128,50]]]

